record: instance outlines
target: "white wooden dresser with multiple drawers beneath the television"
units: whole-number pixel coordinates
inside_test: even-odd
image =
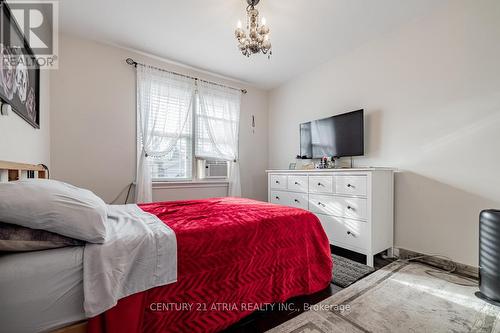
[[[392,169],[267,170],[268,201],[311,211],[330,244],[373,256],[392,252]],[[391,254],[391,253],[390,253]]]

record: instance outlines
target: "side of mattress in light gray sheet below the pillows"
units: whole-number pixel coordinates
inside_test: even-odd
[[[47,332],[84,320],[83,249],[0,255],[0,330]]]

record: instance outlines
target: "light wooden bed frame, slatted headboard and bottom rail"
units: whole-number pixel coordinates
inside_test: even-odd
[[[48,178],[48,170],[41,164],[0,161],[0,183],[30,178]],[[86,333],[87,321],[59,328],[51,333]]]

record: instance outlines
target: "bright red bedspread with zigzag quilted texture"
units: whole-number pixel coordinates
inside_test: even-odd
[[[217,332],[330,283],[328,239],[307,211],[240,198],[140,207],[175,231],[178,281],[121,299],[91,333]]]

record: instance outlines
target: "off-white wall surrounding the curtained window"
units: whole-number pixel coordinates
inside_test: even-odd
[[[60,36],[59,70],[51,76],[52,175],[113,200],[135,179],[135,70],[127,57],[180,73],[248,89],[240,127],[243,195],[266,199],[267,93],[240,82],[73,36]],[[251,133],[251,115],[257,128]],[[210,189],[155,189],[154,199],[219,196]],[[121,201],[123,202],[123,195]]]

